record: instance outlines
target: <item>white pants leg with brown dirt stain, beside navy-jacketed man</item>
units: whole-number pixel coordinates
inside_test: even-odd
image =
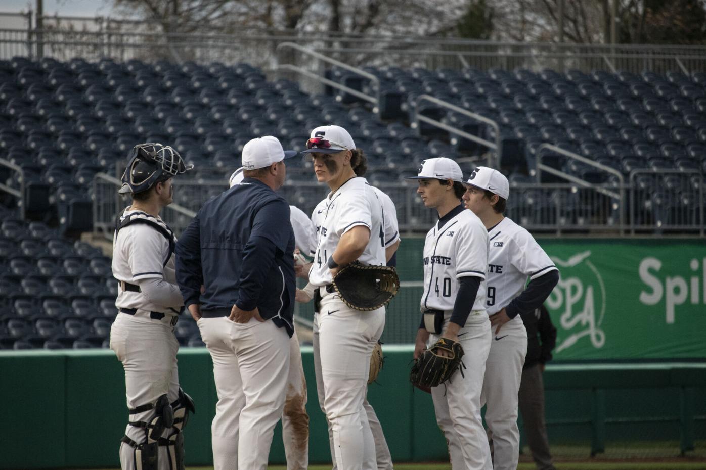
[[[306,414],[306,379],[297,333],[289,339],[289,375],[285,409],[282,411],[282,442],[287,470],[309,468],[309,414]]]

